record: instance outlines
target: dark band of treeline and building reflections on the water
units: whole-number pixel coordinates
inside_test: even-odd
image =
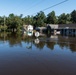
[[[8,42],[10,47],[20,46],[22,47],[22,42],[26,43],[26,48],[32,48],[32,46],[36,46],[39,49],[43,49],[46,45],[47,48],[54,50],[54,46],[58,44],[62,49],[64,47],[69,48],[71,51],[76,51],[76,37],[68,37],[68,36],[45,36],[45,37],[29,37],[26,35],[21,35],[17,33],[0,33],[0,43]]]

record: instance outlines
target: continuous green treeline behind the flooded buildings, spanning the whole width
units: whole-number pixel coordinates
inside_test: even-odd
[[[56,16],[55,11],[50,12],[47,16],[40,11],[35,16],[25,16],[10,14],[8,17],[0,16],[0,30],[20,31],[23,25],[46,26],[46,24],[71,24],[76,23],[76,10],[71,13],[62,13]]]

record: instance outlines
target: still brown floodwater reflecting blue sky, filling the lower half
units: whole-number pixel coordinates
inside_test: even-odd
[[[76,75],[76,37],[0,33],[0,75]]]

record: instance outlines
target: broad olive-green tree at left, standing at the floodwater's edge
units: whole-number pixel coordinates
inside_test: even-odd
[[[20,28],[22,27],[22,19],[20,18],[20,16],[15,16],[14,14],[10,14],[7,19],[7,26],[8,29],[11,29],[13,32],[19,31]]]

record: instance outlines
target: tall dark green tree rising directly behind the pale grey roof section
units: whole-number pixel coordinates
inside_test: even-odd
[[[52,11],[47,15],[47,23],[48,24],[56,24],[57,23],[57,18],[55,16],[55,12]]]

